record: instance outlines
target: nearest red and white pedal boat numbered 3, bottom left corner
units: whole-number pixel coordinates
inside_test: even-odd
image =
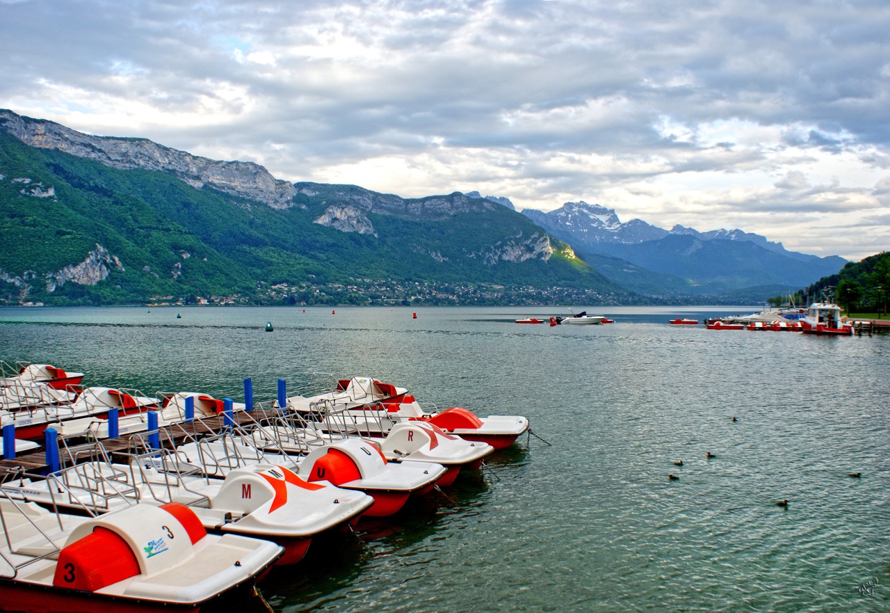
[[[137,504],[99,517],[48,511],[0,489],[0,599],[29,613],[197,611],[252,587],[282,548],[208,535],[177,503]]]

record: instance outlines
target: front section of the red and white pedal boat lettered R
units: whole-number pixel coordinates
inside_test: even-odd
[[[431,462],[448,472],[438,483],[450,486],[463,468],[474,470],[494,447],[448,434],[433,423],[408,421],[397,423],[380,442],[380,451],[389,462]]]

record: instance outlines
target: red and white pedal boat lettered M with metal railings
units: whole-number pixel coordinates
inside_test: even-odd
[[[99,444],[92,454],[104,458],[58,470],[49,479],[17,478],[3,487],[43,505],[95,513],[183,503],[211,532],[280,544],[285,552],[279,564],[302,560],[314,535],[357,520],[374,503],[362,492],[309,483],[274,464],[231,470],[217,479],[175,470],[169,450],[134,455],[128,463],[108,461]]]

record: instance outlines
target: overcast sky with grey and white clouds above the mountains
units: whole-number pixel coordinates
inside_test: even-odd
[[[291,181],[890,249],[887,0],[0,0],[0,107]]]

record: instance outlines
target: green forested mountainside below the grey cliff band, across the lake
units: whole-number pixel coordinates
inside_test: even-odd
[[[150,142],[131,144],[142,143]],[[344,285],[353,288],[352,301],[367,302],[369,287],[420,282],[451,290],[501,285],[506,293],[565,289],[562,298],[550,296],[554,302],[627,301],[568,245],[487,200],[457,192],[404,200],[349,185],[295,188],[286,206],[271,206],[225,186],[196,188],[173,172],[112,168],[0,131],[0,298],[293,303],[311,298],[313,288]],[[341,215],[371,229],[343,231]],[[319,223],[325,216],[333,218],[328,225]],[[282,284],[286,290],[271,289]]]

